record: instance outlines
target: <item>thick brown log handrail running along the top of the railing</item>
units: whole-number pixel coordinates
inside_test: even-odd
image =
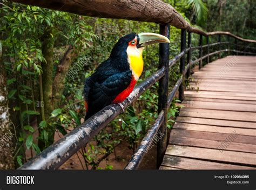
[[[153,22],[158,24],[170,24],[178,29],[185,29],[187,32],[198,33],[203,36],[228,35],[244,42],[256,43],[253,39],[244,39],[235,36],[230,32],[216,31],[204,32],[194,28],[188,23],[180,13],[170,4],[158,0],[13,0],[17,3],[41,6],[43,8],[59,11],[71,12],[78,15],[99,17],[99,18],[117,18],[133,21]]]

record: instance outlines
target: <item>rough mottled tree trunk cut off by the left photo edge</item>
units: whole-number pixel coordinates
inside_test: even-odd
[[[14,168],[14,125],[9,120],[6,73],[0,42],[0,169]]]

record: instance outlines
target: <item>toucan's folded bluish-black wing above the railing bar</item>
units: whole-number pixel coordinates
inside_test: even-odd
[[[88,105],[86,119],[110,105],[114,98],[130,85],[132,78],[130,70],[113,72],[114,69],[98,70],[86,79],[84,87],[85,101]]]

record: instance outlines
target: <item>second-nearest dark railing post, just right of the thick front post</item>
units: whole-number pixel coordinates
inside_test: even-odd
[[[181,29],[181,37],[180,37],[180,52],[183,52],[186,50],[186,30]],[[184,100],[184,70],[185,70],[185,57],[186,54],[184,53],[184,56],[180,58],[180,65],[179,65],[179,73],[183,75],[183,83],[179,86],[179,100]]]

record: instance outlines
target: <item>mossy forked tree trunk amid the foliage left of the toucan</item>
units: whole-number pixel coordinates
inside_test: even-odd
[[[69,67],[72,63],[72,59],[77,56],[73,46],[69,46],[66,50],[63,58],[57,67],[55,77],[53,77],[53,44],[54,39],[51,36],[52,30],[45,32],[42,37],[42,53],[46,60],[46,63],[42,63],[42,86],[43,86],[43,103],[45,120],[48,120],[51,116],[51,112],[60,107],[61,97],[65,87],[65,77],[69,71]],[[41,98],[42,100],[42,98]],[[43,119],[43,118],[42,118]],[[41,139],[38,141],[38,146],[43,150],[54,142],[55,128],[48,127],[48,143]]]

